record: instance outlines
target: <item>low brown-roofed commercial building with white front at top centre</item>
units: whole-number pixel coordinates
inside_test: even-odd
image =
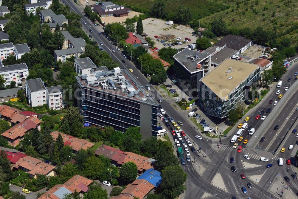
[[[100,17],[107,17],[107,16],[122,17],[122,16],[128,16],[128,13],[131,12],[130,8],[124,7],[122,5],[114,4],[111,1],[102,1],[98,5],[94,5],[93,10]]]

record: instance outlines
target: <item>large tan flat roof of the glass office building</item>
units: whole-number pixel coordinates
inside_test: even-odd
[[[232,67],[231,73],[226,73]],[[259,65],[226,59],[201,79],[218,97],[224,99],[232,90],[252,74]],[[228,79],[232,76],[232,79]]]

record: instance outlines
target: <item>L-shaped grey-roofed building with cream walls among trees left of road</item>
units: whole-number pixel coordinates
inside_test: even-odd
[[[54,50],[54,59],[58,62],[65,62],[66,58],[74,56],[78,58],[85,52],[86,42],[83,38],[73,38],[68,31],[62,31],[64,43],[61,50]]]

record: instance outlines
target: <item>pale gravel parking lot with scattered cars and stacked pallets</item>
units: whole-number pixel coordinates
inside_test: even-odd
[[[192,36],[193,29],[188,26],[177,25],[177,24],[167,25],[164,20],[154,19],[154,18],[144,19],[142,22],[143,22],[144,32],[151,39],[155,40],[155,43],[156,43],[155,45],[159,49],[165,46],[162,45],[160,41],[157,41],[157,39],[154,38],[154,36],[161,36],[165,34],[175,35],[175,37],[172,40],[165,42],[166,44],[176,43],[178,42],[176,41],[176,38],[181,37],[181,40],[179,42],[182,42],[183,44],[178,46],[175,45],[175,46],[172,46],[171,48],[184,48],[189,44],[195,43],[195,40],[198,38],[198,37]],[[185,37],[190,38],[191,41],[188,43],[185,43],[184,42]]]

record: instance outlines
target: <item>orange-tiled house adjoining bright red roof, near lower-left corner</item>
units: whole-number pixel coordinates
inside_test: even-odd
[[[25,156],[14,163],[13,168],[21,169],[22,171],[29,173],[30,177],[36,178],[37,175],[54,176],[54,169],[56,167],[37,158]]]

